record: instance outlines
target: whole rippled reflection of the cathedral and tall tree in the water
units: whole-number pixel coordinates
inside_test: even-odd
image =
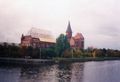
[[[23,66],[19,82],[80,82],[84,63]]]

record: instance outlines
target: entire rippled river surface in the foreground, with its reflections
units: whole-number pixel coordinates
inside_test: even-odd
[[[120,61],[0,66],[0,82],[120,82]]]

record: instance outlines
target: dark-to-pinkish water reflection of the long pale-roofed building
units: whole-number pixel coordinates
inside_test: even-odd
[[[56,65],[25,66],[21,68],[19,82],[57,82]]]

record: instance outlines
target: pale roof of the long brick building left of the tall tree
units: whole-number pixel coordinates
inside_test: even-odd
[[[39,38],[40,41],[55,43],[55,38],[52,36],[52,33],[48,30],[31,28],[28,34],[34,38]]]

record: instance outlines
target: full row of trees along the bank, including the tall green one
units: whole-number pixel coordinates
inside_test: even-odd
[[[71,48],[66,35],[60,34],[56,44],[49,48],[20,47],[15,44],[0,44],[0,57],[11,58],[80,58],[80,57],[120,57],[120,50]]]

